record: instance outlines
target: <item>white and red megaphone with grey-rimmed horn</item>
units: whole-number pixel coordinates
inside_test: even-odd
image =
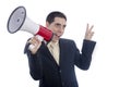
[[[17,7],[14,9],[8,20],[8,32],[14,34],[17,30],[24,30],[33,35],[38,35],[46,41],[50,41],[53,36],[53,33],[47,27],[44,27],[31,21],[26,16],[26,9],[24,7]]]

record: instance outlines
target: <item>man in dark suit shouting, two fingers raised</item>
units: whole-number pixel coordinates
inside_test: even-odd
[[[55,34],[52,40],[45,44],[34,36],[27,41],[34,45],[33,49],[26,51],[29,73],[34,79],[39,80],[39,87],[79,87],[74,65],[82,70],[90,67],[96,44],[91,40],[93,26],[87,24],[82,52],[73,40],[60,38],[66,26],[66,15],[51,12],[47,16],[46,27]],[[55,49],[53,52],[51,48]]]

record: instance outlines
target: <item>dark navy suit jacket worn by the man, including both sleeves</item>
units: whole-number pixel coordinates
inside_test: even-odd
[[[73,40],[60,39],[59,65],[44,42],[36,54],[27,50],[31,76],[39,80],[39,87],[79,87],[74,65],[82,70],[90,67],[95,44],[95,41],[83,40],[80,52]]]

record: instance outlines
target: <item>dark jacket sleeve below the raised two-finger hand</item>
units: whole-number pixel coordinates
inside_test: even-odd
[[[96,42],[92,40],[83,40],[82,51],[75,51],[75,65],[82,70],[88,70],[92,61],[92,54]]]

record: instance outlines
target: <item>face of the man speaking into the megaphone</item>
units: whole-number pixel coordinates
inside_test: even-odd
[[[62,17],[55,17],[55,21],[46,26],[55,34],[52,37],[52,41],[58,41],[59,38],[63,35],[66,28],[66,20]]]

